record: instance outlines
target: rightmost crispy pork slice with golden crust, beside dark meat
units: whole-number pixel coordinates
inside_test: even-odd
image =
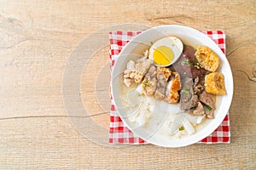
[[[167,82],[165,101],[170,104],[178,102],[178,91],[181,89],[180,76],[177,72],[172,72],[171,80]]]

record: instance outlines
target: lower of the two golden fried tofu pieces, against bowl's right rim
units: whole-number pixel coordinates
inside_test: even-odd
[[[225,95],[224,76],[220,72],[212,72],[205,78],[206,91],[209,94]]]

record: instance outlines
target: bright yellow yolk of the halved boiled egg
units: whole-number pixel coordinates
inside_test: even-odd
[[[157,65],[168,65],[173,59],[172,49],[166,46],[155,48],[153,58]]]

